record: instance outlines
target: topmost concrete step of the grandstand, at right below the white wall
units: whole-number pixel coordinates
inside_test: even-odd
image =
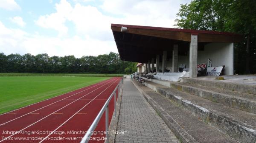
[[[214,87],[224,90],[231,90],[231,91],[237,91],[241,93],[250,93],[256,95],[256,85],[255,84],[242,84],[241,82],[231,82],[231,81],[225,81],[225,80],[212,80],[212,79],[189,79],[184,78],[181,80],[181,82],[186,82],[190,84],[196,84],[206,87]]]

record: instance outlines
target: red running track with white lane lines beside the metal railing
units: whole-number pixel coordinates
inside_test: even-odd
[[[63,131],[65,130],[64,132],[66,132],[68,129],[71,129],[71,131],[72,130],[86,131],[89,128],[90,123],[93,122],[99,110],[102,108],[103,104],[105,104],[105,101],[108,99],[109,95],[111,95],[111,93],[113,92],[113,90],[115,89],[119,81],[120,81],[120,78],[113,78],[113,79],[104,81],[103,84],[97,85],[97,87],[92,88],[90,92],[89,90],[84,91],[84,89],[79,89],[76,91],[76,93],[80,92],[79,94],[68,97],[65,100],[62,100],[61,102],[58,102],[58,104],[57,103],[52,104],[51,106],[45,107],[43,109],[39,109],[36,113],[28,114],[26,116],[16,119],[15,121],[11,121],[9,123],[4,124],[3,126],[0,126],[0,132],[2,134],[2,132],[6,130],[23,132],[23,131],[54,131],[54,130],[58,131],[60,129]],[[93,85],[89,87],[93,87]],[[73,91],[70,93],[75,93],[75,92]],[[63,98],[60,98],[60,96],[51,98],[51,100],[61,100],[61,99]],[[59,108],[57,105],[59,105],[61,108]],[[58,110],[55,110],[55,109],[58,109]],[[52,110],[54,110],[54,112],[52,112]],[[17,111],[18,110],[16,110],[16,112]],[[109,115],[111,119],[113,114],[113,99],[111,100],[109,113],[110,113]],[[96,129],[98,128],[101,130],[104,129],[105,122],[100,121],[99,126]],[[49,136],[49,137],[53,136],[49,134],[23,135],[22,132],[19,132],[15,135],[13,134],[2,135],[2,137],[9,137],[9,139],[15,139],[15,137],[44,138],[46,136]],[[59,136],[67,137],[69,135],[59,135]],[[82,137],[82,136],[84,135],[83,134],[76,135],[76,137]],[[23,139],[22,140],[1,140],[0,142],[38,143],[40,142],[40,140],[23,140]],[[44,142],[52,143],[53,141],[44,140]],[[73,143],[74,141],[61,140],[60,142]],[[79,142],[79,140],[76,140],[75,142]]]

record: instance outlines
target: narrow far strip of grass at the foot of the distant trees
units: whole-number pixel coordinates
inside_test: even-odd
[[[0,76],[102,76],[116,77],[124,74],[90,74],[90,73],[0,73]]]

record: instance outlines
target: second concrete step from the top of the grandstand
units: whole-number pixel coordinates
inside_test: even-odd
[[[183,82],[171,82],[171,87],[229,107],[256,113],[256,95],[253,94],[222,90],[219,88]]]

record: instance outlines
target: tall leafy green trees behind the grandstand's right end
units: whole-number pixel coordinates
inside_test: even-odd
[[[177,26],[243,35],[235,44],[237,73],[256,73],[256,0],[192,0],[181,4]]]

